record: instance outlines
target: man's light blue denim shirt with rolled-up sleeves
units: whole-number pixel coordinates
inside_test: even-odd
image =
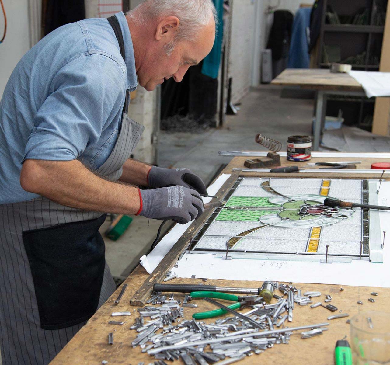
[[[0,102],[0,204],[38,196],[20,186],[25,159],[96,170],[108,158],[126,90],[137,87],[129,27],[116,17],[126,63],[107,19],[86,19],[46,35],[16,65]]]

